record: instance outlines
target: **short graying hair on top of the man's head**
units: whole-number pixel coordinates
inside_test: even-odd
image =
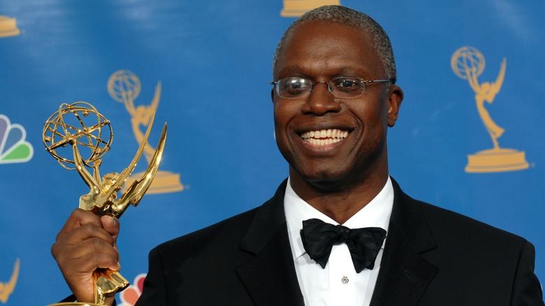
[[[375,52],[377,52],[377,55],[382,62],[384,72],[386,73],[386,78],[395,83],[397,78],[395,73],[395,60],[393,58],[390,38],[388,38],[386,31],[384,31],[380,24],[378,24],[368,15],[345,6],[321,6],[314,10],[308,11],[298,20],[293,22],[286,32],[284,32],[282,38],[280,38],[276,48],[275,57],[273,59],[273,71],[278,64],[280,55],[282,52],[284,52],[289,35],[298,25],[305,24],[307,22],[333,22],[337,24],[344,24],[349,27],[355,27],[370,33],[372,35],[373,48],[375,48]]]

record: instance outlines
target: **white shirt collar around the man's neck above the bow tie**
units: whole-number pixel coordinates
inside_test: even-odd
[[[342,225],[347,226],[347,228],[379,227],[388,231],[392,207],[393,186],[388,176],[388,180],[379,194]],[[293,260],[306,253],[300,236],[300,231],[303,229],[303,220],[316,218],[329,224],[337,224],[326,214],[319,212],[319,210],[303,201],[291,188],[289,178],[286,193],[284,194],[284,211]],[[384,241],[386,242],[386,240]],[[382,246],[384,248],[384,242]]]

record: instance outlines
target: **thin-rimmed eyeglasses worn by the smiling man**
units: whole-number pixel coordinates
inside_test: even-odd
[[[314,85],[326,84],[333,96],[342,99],[354,99],[365,92],[365,85],[370,83],[385,83],[392,80],[363,80],[353,76],[340,76],[329,82],[312,82],[307,78],[289,77],[269,82],[274,85],[278,96],[286,99],[303,99],[310,95]]]

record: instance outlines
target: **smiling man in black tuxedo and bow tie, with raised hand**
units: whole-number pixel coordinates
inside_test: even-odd
[[[310,11],[280,41],[273,79],[289,180],[260,207],[153,249],[138,305],[543,305],[529,242],[415,201],[388,176],[403,92],[376,22]],[[344,227],[316,235],[308,228],[324,224],[306,219]],[[57,236],[78,300],[92,300],[94,268],[119,268],[118,231],[75,210]],[[312,242],[330,249],[314,254]]]

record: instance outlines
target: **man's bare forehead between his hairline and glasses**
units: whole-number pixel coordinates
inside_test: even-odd
[[[286,38],[273,73],[275,78],[293,73],[377,78],[384,75],[384,67],[365,29],[333,22],[305,22]]]

